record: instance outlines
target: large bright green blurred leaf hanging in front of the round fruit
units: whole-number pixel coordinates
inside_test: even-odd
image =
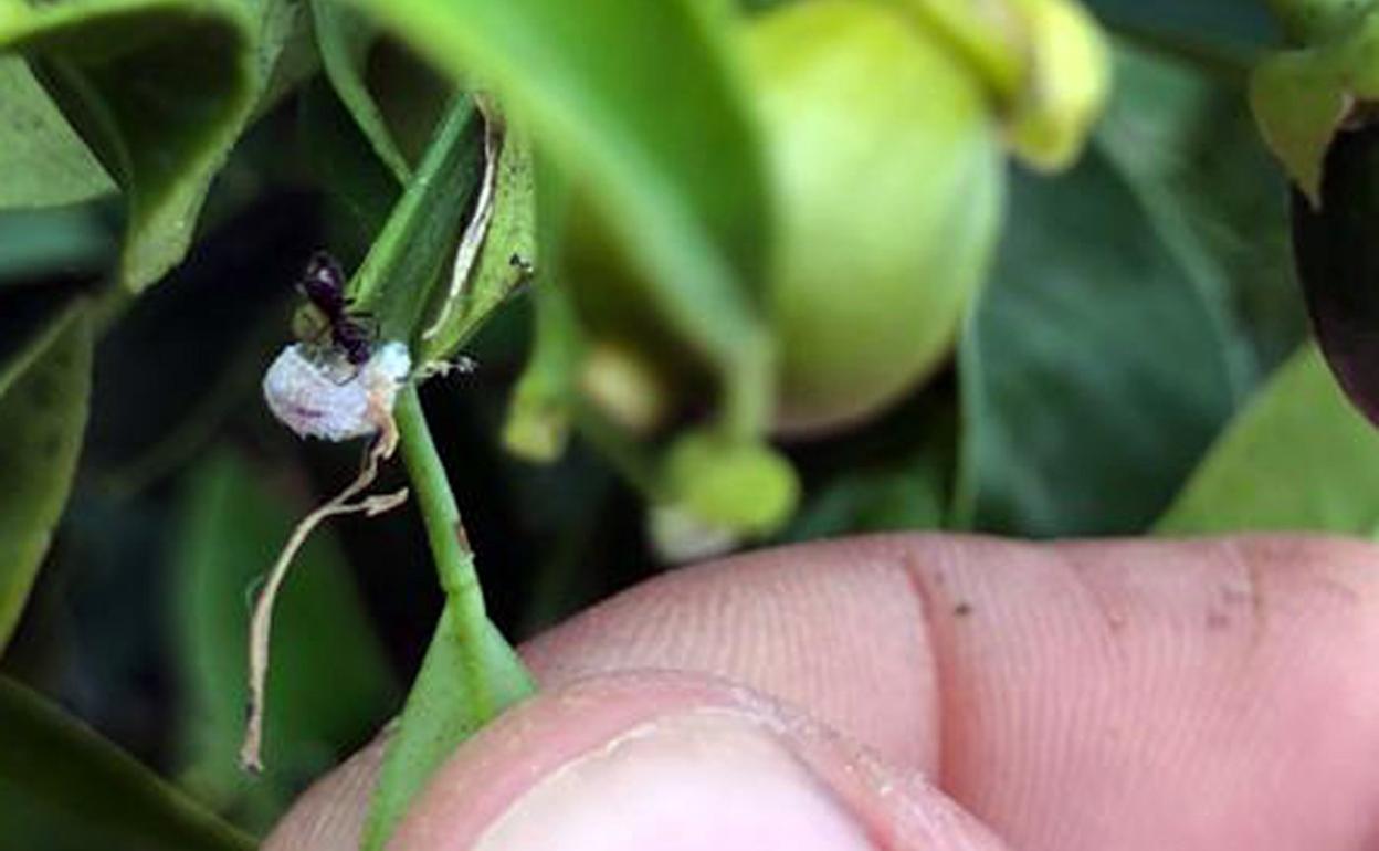
[[[727,57],[725,15],[696,0],[357,0],[418,52],[492,87],[587,188],[652,281],[648,295],[724,379],[724,417],[761,428],[767,350],[749,287],[769,215],[760,150]]]

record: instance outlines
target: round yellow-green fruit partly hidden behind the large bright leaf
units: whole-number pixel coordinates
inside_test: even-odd
[[[1000,141],[982,80],[888,6],[790,4],[746,43],[779,226],[778,425],[837,428],[947,356],[1000,221]]]

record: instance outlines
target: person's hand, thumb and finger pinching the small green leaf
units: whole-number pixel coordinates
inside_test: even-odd
[[[524,647],[401,851],[1379,848],[1379,550],[881,537],[680,570]],[[356,847],[378,745],[265,845]]]

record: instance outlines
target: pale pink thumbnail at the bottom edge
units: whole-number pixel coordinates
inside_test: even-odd
[[[874,851],[769,731],[727,710],[637,727],[513,803],[474,851]]]

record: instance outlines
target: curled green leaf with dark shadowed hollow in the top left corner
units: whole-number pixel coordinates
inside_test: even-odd
[[[29,57],[125,194],[124,287],[141,290],[186,252],[254,108],[255,32],[230,0],[0,7],[0,50]]]

